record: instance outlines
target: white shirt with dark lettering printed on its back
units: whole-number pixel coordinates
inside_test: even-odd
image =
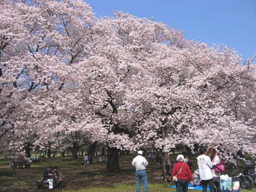
[[[197,157],[197,164],[199,168],[199,175],[201,180],[212,179],[211,168],[212,163],[210,157],[207,155],[200,155]]]

